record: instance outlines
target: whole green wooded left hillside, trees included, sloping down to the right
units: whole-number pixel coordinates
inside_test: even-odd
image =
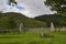
[[[44,22],[28,18],[21,13],[0,13],[0,29],[19,29],[21,23],[24,23],[25,28],[45,26]]]

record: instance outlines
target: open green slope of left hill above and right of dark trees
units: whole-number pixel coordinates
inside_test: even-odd
[[[34,19],[28,18],[28,16],[21,14],[21,13],[14,13],[14,12],[0,13],[0,23],[1,23],[2,19],[9,18],[10,15],[13,18],[14,22],[16,23],[15,29],[18,29],[21,23],[24,23],[25,28],[42,28],[42,26],[45,26],[45,23],[42,22],[42,21],[34,20]],[[4,22],[4,20],[3,20],[3,22]],[[7,25],[7,26],[9,26],[9,25]],[[1,28],[1,25],[0,25],[0,28]]]

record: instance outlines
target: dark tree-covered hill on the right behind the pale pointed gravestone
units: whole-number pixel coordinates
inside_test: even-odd
[[[35,20],[46,22],[46,26],[51,26],[51,22],[53,22],[56,28],[66,26],[66,16],[64,15],[45,14],[36,16]]]

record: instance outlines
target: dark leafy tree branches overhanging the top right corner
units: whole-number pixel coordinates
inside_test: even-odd
[[[58,14],[66,14],[66,0],[46,0],[45,4]]]

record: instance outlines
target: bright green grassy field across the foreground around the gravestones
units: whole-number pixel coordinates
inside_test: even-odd
[[[54,37],[40,37],[40,32],[0,34],[0,44],[66,44],[66,32],[46,34]]]

